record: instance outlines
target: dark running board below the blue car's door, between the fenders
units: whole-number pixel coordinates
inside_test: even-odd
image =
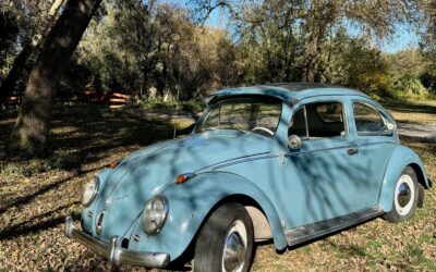
[[[379,206],[375,206],[343,217],[334,218],[295,228],[289,228],[284,231],[284,235],[288,240],[288,246],[295,246],[311,239],[316,239],[329,233],[356,225],[370,219],[377,218],[383,213],[383,209]]]

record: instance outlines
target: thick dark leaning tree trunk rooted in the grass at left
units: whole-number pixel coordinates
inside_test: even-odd
[[[46,151],[51,109],[61,76],[101,0],[68,0],[50,29],[27,82],[12,132],[12,148],[29,156]]]

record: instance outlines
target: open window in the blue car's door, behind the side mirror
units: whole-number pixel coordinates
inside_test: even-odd
[[[308,103],[294,113],[288,134],[311,139],[343,136],[344,120],[341,102]]]

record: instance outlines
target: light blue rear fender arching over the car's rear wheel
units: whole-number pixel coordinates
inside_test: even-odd
[[[404,168],[410,164],[421,170],[422,177],[426,187],[431,187],[427,175],[425,173],[424,164],[422,163],[420,157],[412,149],[403,146],[398,146],[390,156],[390,160],[388,166],[386,168],[385,176],[383,178],[379,205],[385,212],[388,212],[392,209],[395,193],[393,190],[397,181],[398,178],[400,178],[400,175]],[[416,174],[420,176],[419,173]]]

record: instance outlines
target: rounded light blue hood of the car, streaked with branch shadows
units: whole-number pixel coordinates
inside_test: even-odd
[[[96,201],[105,210],[102,236],[126,232],[145,202],[184,173],[269,152],[274,139],[254,133],[220,131],[167,140],[144,148],[109,170]],[[105,230],[105,227],[104,227]]]

